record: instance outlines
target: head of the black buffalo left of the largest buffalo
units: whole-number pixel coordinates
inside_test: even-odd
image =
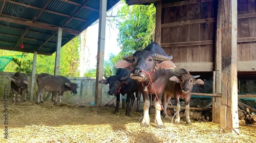
[[[104,77],[105,79],[101,79],[99,83],[109,84],[110,90],[108,91],[108,95],[116,96],[120,92],[119,90],[121,89],[122,85],[130,85],[130,83],[126,81],[126,79],[129,77],[129,74],[125,77],[120,77],[119,75],[107,77],[104,73]]]

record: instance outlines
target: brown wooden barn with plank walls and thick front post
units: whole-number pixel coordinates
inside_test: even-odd
[[[155,41],[174,56],[178,68],[214,77],[213,121],[222,127],[238,128],[238,81],[256,77],[255,1],[126,0],[126,3],[155,4]],[[254,82],[252,89],[256,89]]]

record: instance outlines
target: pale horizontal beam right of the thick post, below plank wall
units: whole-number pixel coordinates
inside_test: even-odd
[[[241,71],[256,71],[256,61],[238,62],[237,70]]]

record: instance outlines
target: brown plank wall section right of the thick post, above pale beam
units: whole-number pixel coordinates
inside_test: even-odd
[[[255,0],[238,0],[238,62],[256,61]]]

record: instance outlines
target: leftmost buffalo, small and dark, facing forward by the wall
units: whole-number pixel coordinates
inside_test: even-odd
[[[13,102],[15,102],[15,96],[18,96],[18,99],[16,100],[17,103],[20,103],[20,96],[22,96],[22,93],[25,92],[24,101],[27,99],[27,93],[28,93],[28,77],[25,73],[16,72],[14,75],[12,75],[11,78],[11,89],[13,94]]]

